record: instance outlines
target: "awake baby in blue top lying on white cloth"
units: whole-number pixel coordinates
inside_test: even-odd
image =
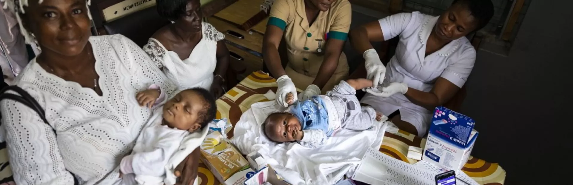
[[[372,107],[360,107],[356,90],[372,86],[364,78],[340,81],[327,92],[305,101],[293,103],[294,96],[286,97],[289,107],[286,112],[271,113],[263,123],[266,137],[275,142],[297,141],[309,148],[324,144],[327,137],[337,129],[364,131],[382,114]]]

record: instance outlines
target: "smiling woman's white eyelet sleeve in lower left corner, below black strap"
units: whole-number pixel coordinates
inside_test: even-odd
[[[40,105],[43,104],[43,99],[39,99],[42,96],[36,90],[23,89]],[[0,109],[14,182],[73,184],[73,176],[65,170],[52,127],[45,124],[35,111],[17,101],[3,100]]]

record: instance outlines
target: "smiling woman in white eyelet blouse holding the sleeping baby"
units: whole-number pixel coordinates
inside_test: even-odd
[[[119,183],[120,160],[151,117],[134,95],[151,84],[168,94],[175,86],[128,38],[91,37],[87,2],[6,1],[28,25],[21,27],[26,41],[37,41],[42,50],[16,84],[38,101],[49,123],[26,105],[0,103],[0,138],[7,142],[15,183]],[[183,174],[197,176],[198,154],[179,165]],[[189,184],[195,176],[180,180]]]

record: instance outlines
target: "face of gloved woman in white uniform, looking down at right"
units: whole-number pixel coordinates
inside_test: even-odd
[[[476,27],[477,21],[468,8],[461,3],[456,3],[439,17],[434,26],[434,32],[439,38],[457,40],[472,32]]]

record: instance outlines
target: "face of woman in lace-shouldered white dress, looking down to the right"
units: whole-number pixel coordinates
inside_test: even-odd
[[[175,21],[180,29],[187,30],[191,33],[201,32],[201,22],[203,12],[199,0],[188,0],[185,6],[185,13]]]

